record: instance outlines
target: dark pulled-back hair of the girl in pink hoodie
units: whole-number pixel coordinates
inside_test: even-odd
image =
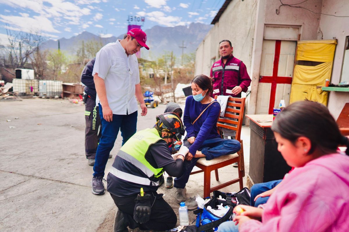
[[[292,103],[276,115],[272,130],[292,143],[300,136],[309,138],[309,154],[313,153],[315,148],[323,154],[333,153],[341,144],[347,145],[346,153],[349,154],[348,139],[341,135],[327,107],[318,102]]]

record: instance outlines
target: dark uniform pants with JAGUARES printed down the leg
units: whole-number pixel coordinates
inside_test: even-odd
[[[102,136],[102,130],[98,129],[101,125],[99,117],[99,107],[96,106],[96,100],[87,97],[85,103],[85,153],[87,159],[95,159],[99,139]]]

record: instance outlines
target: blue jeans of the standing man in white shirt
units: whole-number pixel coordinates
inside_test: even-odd
[[[102,106],[99,104],[99,115],[101,115],[102,137],[99,140],[97,147],[95,165],[93,166],[94,177],[104,176],[104,169],[108,161],[110,151],[114,147],[116,137],[119,130],[122,136],[122,145],[136,133],[137,130],[137,115],[135,111],[132,114],[113,114],[113,121],[107,122],[103,118]]]

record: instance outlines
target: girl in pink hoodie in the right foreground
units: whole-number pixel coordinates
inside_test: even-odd
[[[296,167],[261,208],[240,205],[218,232],[348,232],[349,149],[326,106],[300,101],[275,118],[277,149]],[[346,145],[346,154],[337,151]]]

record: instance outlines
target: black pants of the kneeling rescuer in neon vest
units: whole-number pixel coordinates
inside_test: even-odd
[[[157,194],[156,192],[150,193],[151,203],[153,203],[154,200],[155,202],[151,207],[149,221],[143,224],[139,224],[133,219],[134,199],[137,197],[137,194],[129,197],[117,197],[111,193],[110,195],[118,209],[124,212],[125,221],[128,222],[128,227],[130,229],[139,227],[140,230],[165,231],[176,226],[176,213],[174,213],[172,207],[162,198],[162,194]]]

